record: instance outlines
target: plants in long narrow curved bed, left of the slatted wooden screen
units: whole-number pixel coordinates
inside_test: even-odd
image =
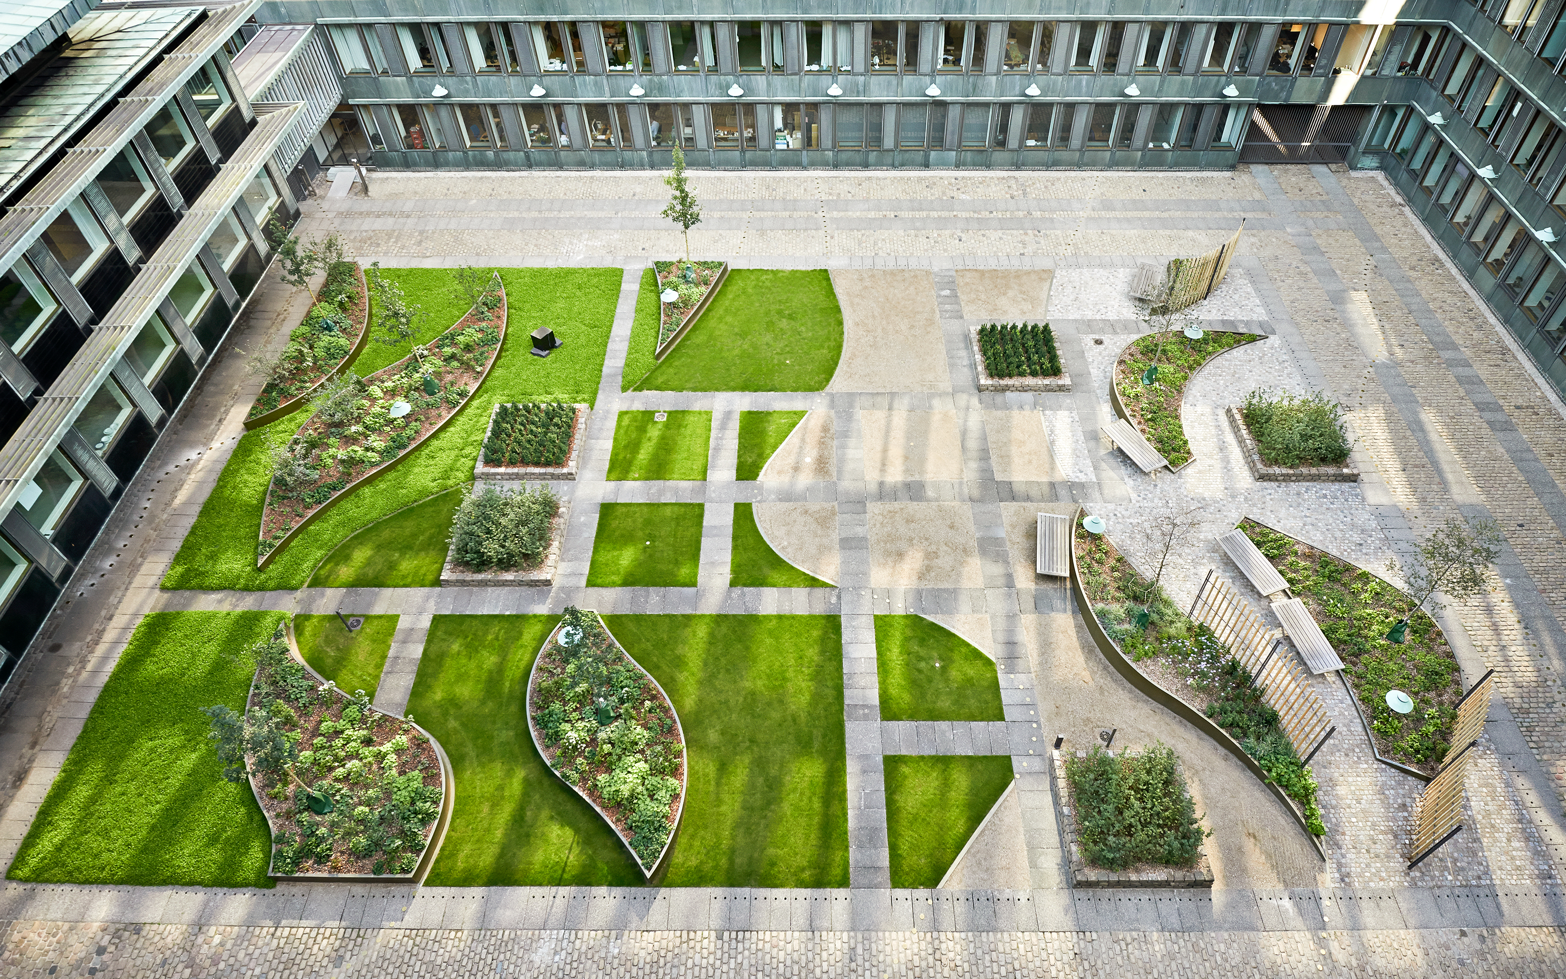
[[[1283,735],[1278,711],[1261,702],[1250,670],[1212,630],[1181,612],[1106,534],[1090,534],[1079,523],[1074,540],[1082,591],[1110,641],[1159,686],[1228,730],[1300,804],[1308,829],[1323,835],[1311,769]]]

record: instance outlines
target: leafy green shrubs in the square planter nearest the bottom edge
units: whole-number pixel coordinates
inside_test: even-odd
[[[1196,863],[1207,830],[1171,749],[1156,744],[1140,755],[1115,757],[1095,747],[1084,758],[1066,758],[1066,783],[1088,863],[1112,871]]]

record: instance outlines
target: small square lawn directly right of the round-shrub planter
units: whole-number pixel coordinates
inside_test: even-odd
[[[587,587],[695,587],[700,561],[700,503],[604,503]]]

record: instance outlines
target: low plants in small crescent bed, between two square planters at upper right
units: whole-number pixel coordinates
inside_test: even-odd
[[[1207,331],[1201,340],[1179,332],[1153,334],[1132,340],[1115,362],[1115,387],[1131,423],[1142,429],[1153,448],[1171,467],[1190,462],[1190,442],[1181,426],[1179,409],[1185,398],[1185,382],[1192,373],[1226,349],[1262,340],[1253,334]],[[1153,384],[1142,384],[1148,368],[1157,360]]]

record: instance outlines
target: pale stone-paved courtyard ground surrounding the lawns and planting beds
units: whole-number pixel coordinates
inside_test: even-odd
[[[694,255],[832,271],[846,340],[827,390],[622,393],[642,269],[680,244],[658,216],[659,174],[376,174],[371,196],[305,202],[302,230],[335,230],[365,265],[623,269],[581,475],[562,490],[556,584],[160,589],[260,387],[235,351],[279,348],[304,312],[274,269],[23,666],[0,717],[0,862],[147,612],[398,614],[376,706],[402,713],[432,616],[578,605],[841,616],[850,887],[6,882],[0,977],[1566,971],[1566,409],[1378,174],[697,172],[692,188]],[[1115,359],[1145,332],[1132,271],[1204,252],[1242,219],[1228,277],[1193,312],[1265,341],[1192,381],[1195,461],[1151,479],[1099,435]],[[968,331],[993,316],[1048,320],[1073,390],[980,393]],[[1223,410],[1257,385],[1340,401],[1361,481],[1251,479]],[[713,412],[705,482],[606,479],[617,412],[681,409]],[[739,414],[785,409],[808,414],[760,481],[738,481]],[[587,587],[600,508],[667,501],[708,504],[697,587]],[[753,503],[778,553],[835,587],[728,587],[733,503]],[[1347,689],[1314,677],[1337,728],[1312,760],[1319,851],[1245,766],[1110,667],[1063,580],[1034,573],[1038,512],[1082,506],[1113,529],[1165,504],[1203,506],[1164,580],[1182,608],[1207,569],[1265,605],[1214,540],[1245,515],[1377,572],[1453,515],[1499,522],[1497,587],[1438,616],[1464,686],[1497,675],[1452,843],[1406,868],[1420,783],[1377,763]],[[1117,544],[1145,556],[1129,536]],[[872,617],[886,612],[927,616],[993,658],[1005,721],[883,721]],[[1068,887],[1049,750],[1106,728],[1117,747],[1181,755],[1214,830],[1212,891]],[[962,887],[897,890],[883,758],[940,753],[1010,757],[1015,802],[954,868]]]

